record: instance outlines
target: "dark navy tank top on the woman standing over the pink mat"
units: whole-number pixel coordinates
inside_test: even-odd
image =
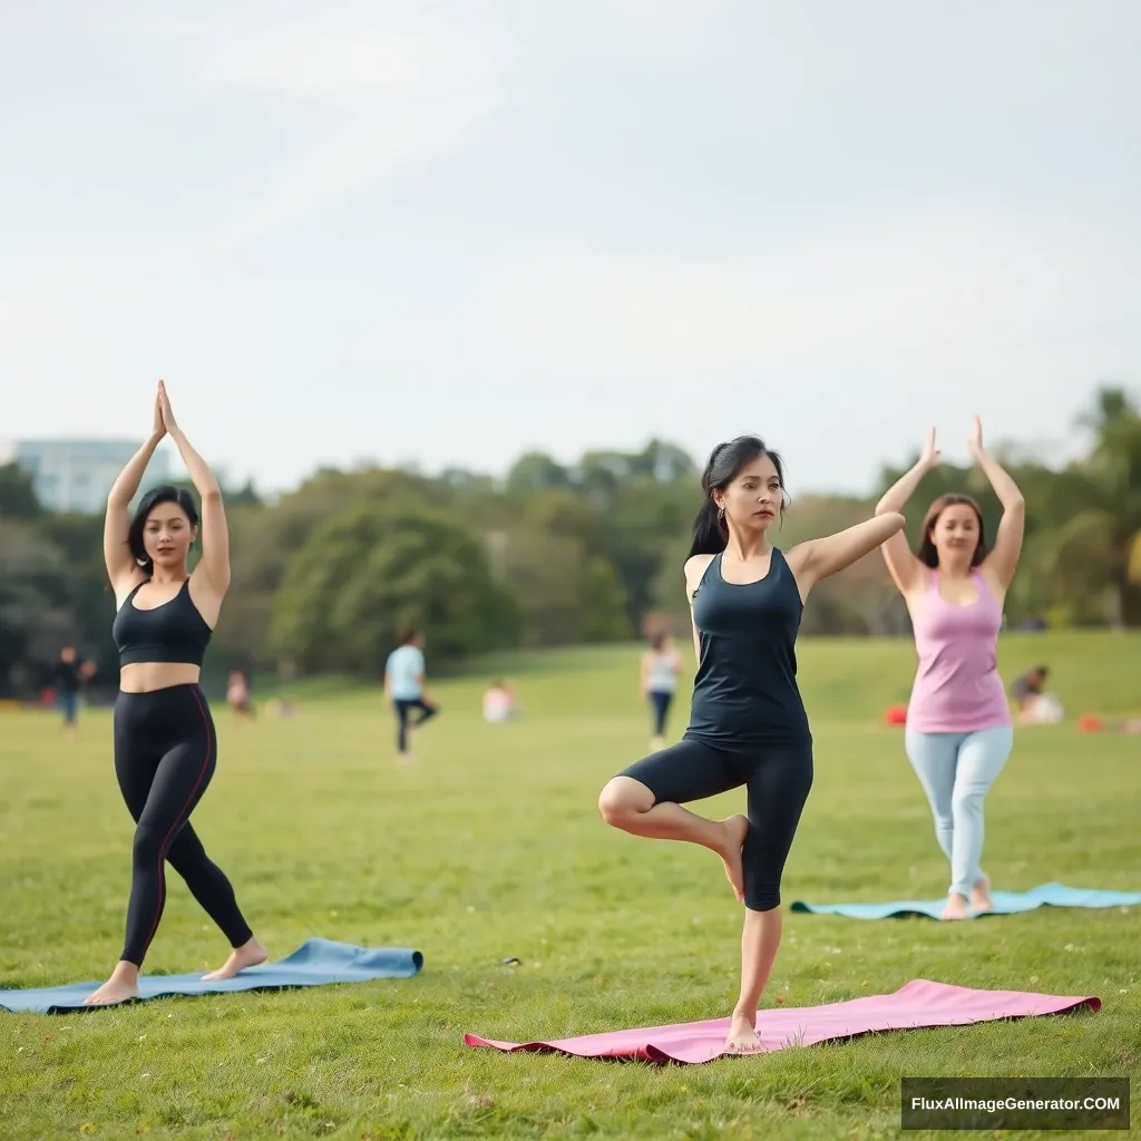
[[[694,596],[701,662],[687,737],[723,748],[811,742],[796,686],[796,634],[804,605],[784,555],[746,586],[713,557]]]

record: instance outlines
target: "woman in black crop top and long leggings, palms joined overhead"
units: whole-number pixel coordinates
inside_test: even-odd
[[[193,574],[187,555],[199,534],[199,512],[189,494],[152,488],[133,521],[128,516],[147,462],[167,435],[202,496],[202,558]],[[115,776],[136,830],[123,953],[111,978],[88,997],[90,1005],[137,997],[139,968],[162,919],[168,863],[233,948],[205,978],[230,978],[266,960],[229,880],[189,825],[218,761],[199,673],[229,588],[229,537],[218,483],[175,422],[162,381],[151,437],[107,496],[103,553],[115,591],[112,632],[120,659]]]

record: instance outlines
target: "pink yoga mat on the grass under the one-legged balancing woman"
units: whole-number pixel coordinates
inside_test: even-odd
[[[1101,1010],[1095,997],[1062,997],[1022,990],[972,990],[946,982],[912,979],[891,995],[867,995],[826,1006],[775,1008],[756,1014],[756,1036],[766,1053],[785,1046],[812,1046],[876,1030],[914,1030],[929,1026],[970,1026],[1004,1018],[1060,1014],[1087,1006]],[[495,1050],[557,1051],[576,1058],[638,1058],[653,1062],[710,1062],[725,1050],[728,1018],[641,1030],[588,1034],[556,1042],[491,1042],[466,1034],[469,1046]]]

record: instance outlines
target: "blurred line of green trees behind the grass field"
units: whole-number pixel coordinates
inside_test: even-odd
[[[1011,624],[1141,625],[1141,411],[1104,388],[1081,427],[1091,445],[1073,462],[1000,453],[1027,501]],[[867,518],[911,462],[884,467],[866,499],[793,488],[775,542]],[[683,450],[653,440],[569,466],[528,453],[503,479],[377,467],[318,470],[273,503],[250,486],[227,491],[233,581],[208,662],[215,673],[375,678],[406,625],[428,632],[434,669],[495,648],[683,632],[699,475]],[[926,504],[947,491],[973,494],[994,534],[1001,508],[981,472],[944,463],[908,510],[913,543]],[[68,642],[99,677],[118,678],[102,526],[44,510],[21,469],[0,467],[0,696],[43,685]],[[817,588],[803,631],[909,631],[877,552]]]

